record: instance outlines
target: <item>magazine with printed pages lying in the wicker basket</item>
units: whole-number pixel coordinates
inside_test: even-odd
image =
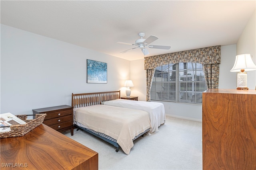
[[[10,125],[23,125],[26,124],[22,119],[14,116],[12,113],[0,114],[0,132],[10,131]]]

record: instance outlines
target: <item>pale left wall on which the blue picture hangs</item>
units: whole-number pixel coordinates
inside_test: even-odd
[[[86,59],[108,64],[107,84],[86,83]],[[122,90],[130,79],[128,60],[2,24],[0,64],[0,113],[15,115],[71,105],[72,93]]]

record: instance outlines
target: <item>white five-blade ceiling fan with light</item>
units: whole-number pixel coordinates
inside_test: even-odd
[[[150,35],[147,39],[143,38],[145,36],[144,32],[138,33],[138,35],[140,36],[140,39],[137,39],[135,41],[135,44],[116,42],[116,43],[119,43],[119,44],[135,45],[135,46],[137,46],[137,47],[134,47],[132,49],[128,49],[126,51],[122,51],[121,53],[126,53],[129,50],[140,48],[144,55],[148,55],[149,52],[146,49],[146,47],[151,48],[151,49],[166,49],[166,50],[171,48],[170,46],[164,46],[164,45],[149,45],[150,43],[152,43],[153,41],[156,41],[158,39],[158,37],[156,37],[154,35]]]

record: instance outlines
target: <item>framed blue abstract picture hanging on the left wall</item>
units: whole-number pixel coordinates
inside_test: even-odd
[[[107,83],[107,63],[87,59],[87,83]]]

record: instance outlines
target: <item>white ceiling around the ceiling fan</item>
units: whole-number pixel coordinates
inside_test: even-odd
[[[214,45],[236,44],[256,1],[82,0],[4,1],[1,23],[127,60],[143,59],[134,46],[139,32],[159,39],[148,49],[160,55]]]

